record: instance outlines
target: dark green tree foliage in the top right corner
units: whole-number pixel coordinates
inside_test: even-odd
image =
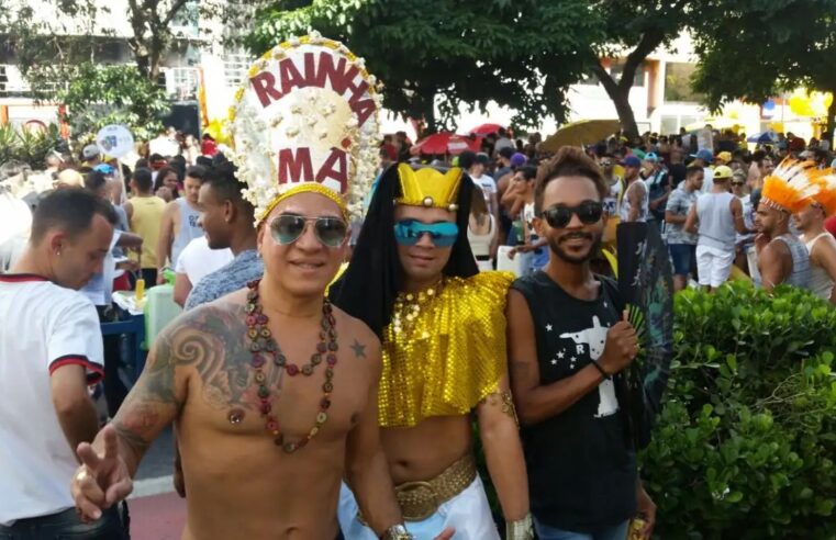
[[[714,2],[694,30],[701,60],[694,87],[713,110],[738,98],[760,103],[801,86],[836,92],[833,0]]]

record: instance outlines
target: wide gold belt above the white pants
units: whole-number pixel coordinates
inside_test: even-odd
[[[468,453],[438,476],[425,482],[404,482],[394,487],[394,495],[406,521],[421,521],[438,507],[464,492],[476,480],[476,461]]]

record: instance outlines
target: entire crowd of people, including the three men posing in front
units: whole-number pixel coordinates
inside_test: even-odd
[[[281,57],[355,61],[322,43]],[[131,168],[88,146],[78,167],[49,158],[48,189],[2,194],[27,226],[0,273],[0,536],[127,538],[119,503],[175,424],[183,538],[492,540],[499,519],[509,540],[647,539],[656,505],[618,394],[639,336],[600,259],[615,224],[658,229],[678,289],[736,266],[831,299],[836,182],[813,142],[750,154],[732,134],[699,151],[688,134],[616,134],[547,155],[502,130],[427,166],[404,135],[364,138],[374,114],[294,127],[335,100],[377,106],[349,72],[361,83],[320,102],[256,65],[237,154],[167,131]],[[267,147],[278,172],[253,150]],[[13,172],[12,188],[29,175]],[[119,317],[113,290],[169,268],[185,311],[129,389],[100,324]]]

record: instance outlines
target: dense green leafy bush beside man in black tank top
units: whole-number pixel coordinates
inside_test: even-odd
[[[836,310],[746,283],[675,302],[642,476],[668,539],[836,538]]]

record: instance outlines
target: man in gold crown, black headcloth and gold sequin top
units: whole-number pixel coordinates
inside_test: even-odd
[[[381,177],[335,305],[381,338],[378,420],[408,530],[462,540],[499,535],[473,462],[476,414],[509,539],[531,538],[528,488],[505,368],[505,295],[513,277],[479,273],[467,243],[472,182],[461,169]],[[393,204],[394,203],[394,204]],[[347,539],[374,539],[348,487]]]

